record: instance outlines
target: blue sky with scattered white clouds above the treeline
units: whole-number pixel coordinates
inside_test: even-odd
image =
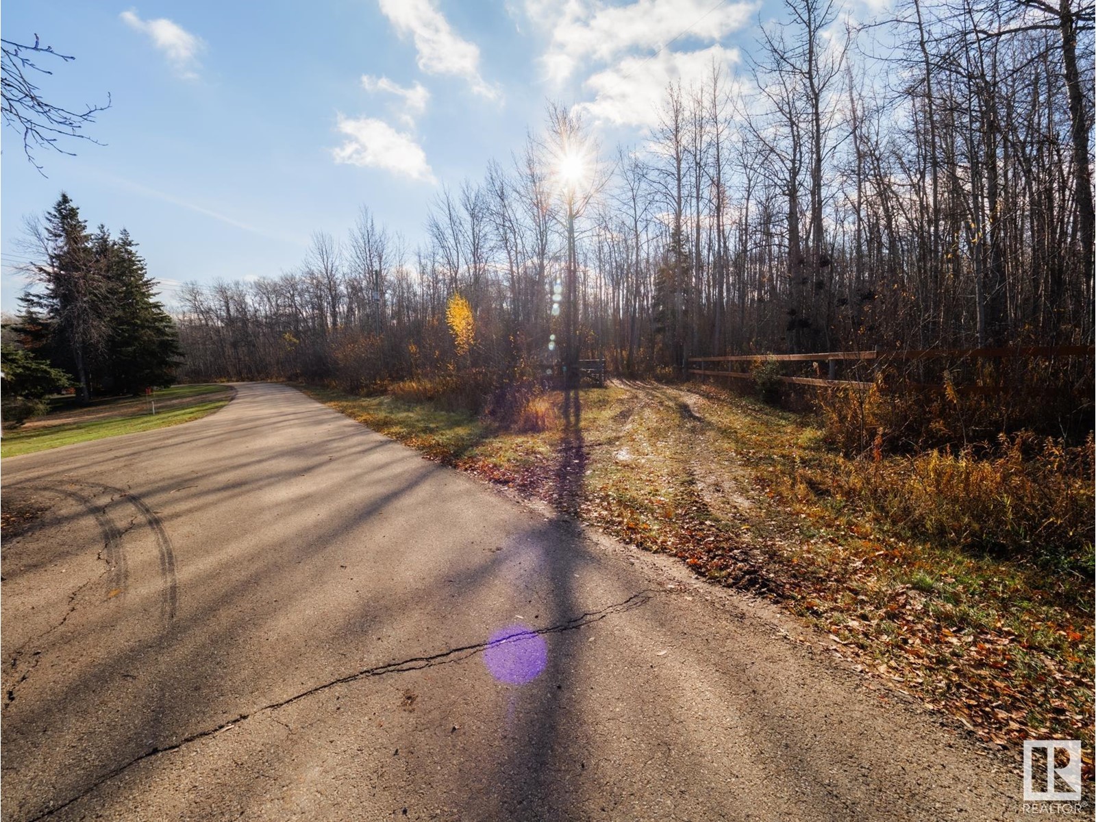
[[[56,61],[44,95],[78,107],[110,92],[113,104],[88,127],[105,145],[37,153],[47,178],[4,129],[2,307],[16,308],[24,215],[61,190],[92,226],[128,228],[169,297],[172,283],[292,269],[312,231],[342,237],[362,205],[413,247],[439,185],[509,158],[547,100],[581,105],[607,149],[636,140],[667,80],[712,60],[742,70],[764,11],[734,0],[9,0],[5,39],[37,33],[77,57]]]

